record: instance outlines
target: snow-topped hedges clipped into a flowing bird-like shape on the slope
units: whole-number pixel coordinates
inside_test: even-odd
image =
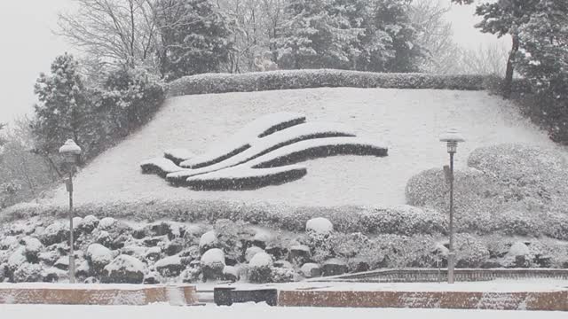
[[[294,165],[333,155],[387,156],[383,145],[360,139],[333,123],[305,123],[296,113],[265,115],[202,155],[176,149],[140,163],[145,174],[165,177],[193,190],[251,190],[288,183],[307,174]],[[186,158],[189,157],[189,158]]]

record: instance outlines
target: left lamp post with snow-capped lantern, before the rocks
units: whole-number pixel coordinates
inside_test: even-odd
[[[75,248],[73,231],[73,173],[77,157],[81,154],[79,147],[72,139],[68,139],[63,146],[59,147],[59,154],[62,154],[67,163],[69,178],[66,181],[67,191],[69,192],[69,283],[75,284]]]

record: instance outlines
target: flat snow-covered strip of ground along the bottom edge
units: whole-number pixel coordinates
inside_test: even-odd
[[[560,319],[564,312],[506,311],[506,310],[457,310],[457,309],[409,309],[409,308],[331,308],[331,307],[270,307],[265,304],[241,304],[232,307],[173,307],[164,304],[150,306],[48,306],[48,305],[0,305],[0,315],[10,319],[58,318],[271,318],[271,319]]]

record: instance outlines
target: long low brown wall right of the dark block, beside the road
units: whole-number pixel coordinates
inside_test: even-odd
[[[419,307],[568,311],[568,292],[280,291],[283,307]]]

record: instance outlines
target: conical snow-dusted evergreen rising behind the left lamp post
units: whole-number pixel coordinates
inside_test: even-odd
[[[88,99],[72,55],[65,53],[51,64],[51,74],[40,74],[35,86],[39,103],[33,123],[38,151],[57,152],[67,138],[83,144],[88,124]]]

